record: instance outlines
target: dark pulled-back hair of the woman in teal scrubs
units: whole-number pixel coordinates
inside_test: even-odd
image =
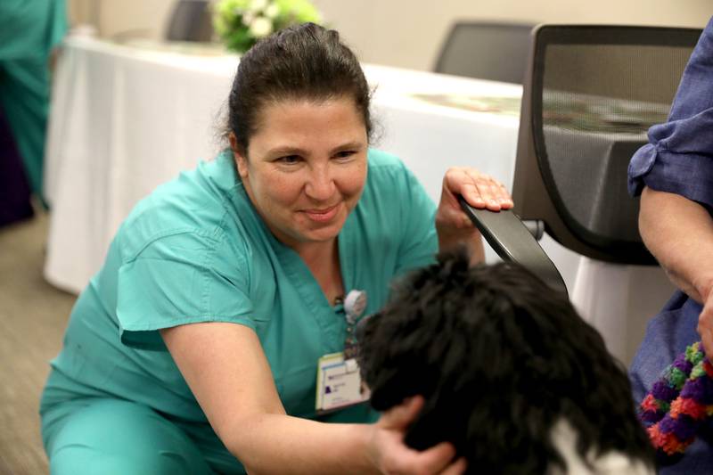
[[[314,23],[283,29],[242,56],[228,99],[227,132],[234,133],[239,151],[247,153],[267,103],[339,97],[354,98],[371,136],[369,86],[356,55],[340,42],[339,33]]]

